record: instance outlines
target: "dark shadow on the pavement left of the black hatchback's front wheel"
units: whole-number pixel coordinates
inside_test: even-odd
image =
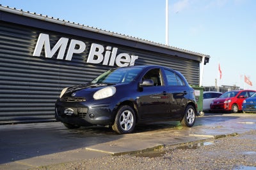
[[[0,164],[76,150],[122,138],[103,126],[67,129],[60,122],[0,126]]]

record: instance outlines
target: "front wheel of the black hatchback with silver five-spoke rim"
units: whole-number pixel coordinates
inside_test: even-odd
[[[129,134],[134,130],[135,123],[136,117],[131,106],[121,106],[116,113],[112,129],[118,134]]]

